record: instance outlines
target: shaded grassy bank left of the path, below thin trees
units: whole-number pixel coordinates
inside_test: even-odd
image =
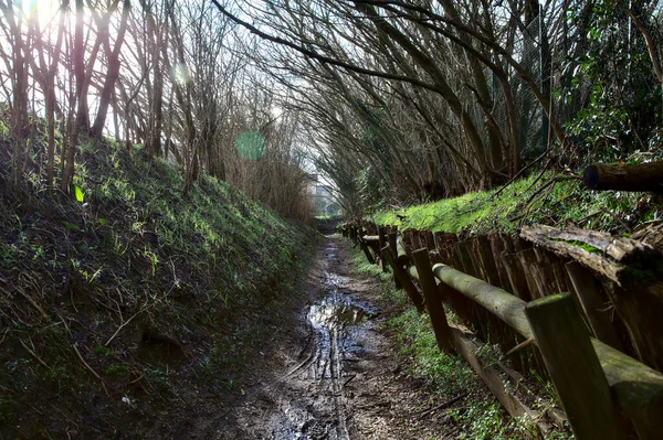
[[[0,438],[168,437],[173,407],[243,394],[314,233],[207,175],[185,196],[140,150],[81,151],[75,198],[0,174]]]

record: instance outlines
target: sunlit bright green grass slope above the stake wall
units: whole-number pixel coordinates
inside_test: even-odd
[[[398,226],[401,230],[414,228],[454,234],[515,233],[525,224],[554,226],[566,222],[585,228],[623,232],[623,224],[652,221],[663,207],[663,198],[652,194],[592,192],[579,180],[551,183],[552,179],[551,173],[546,173],[539,181],[532,175],[503,191],[497,187],[383,211],[375,214],[373,221],[379,225]]]

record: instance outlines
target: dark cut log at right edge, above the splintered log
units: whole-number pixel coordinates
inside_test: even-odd
[[[649,163],[596,163],[585,169],[582,182],[590,190],[651,191],[663,193],[663,161]]]

